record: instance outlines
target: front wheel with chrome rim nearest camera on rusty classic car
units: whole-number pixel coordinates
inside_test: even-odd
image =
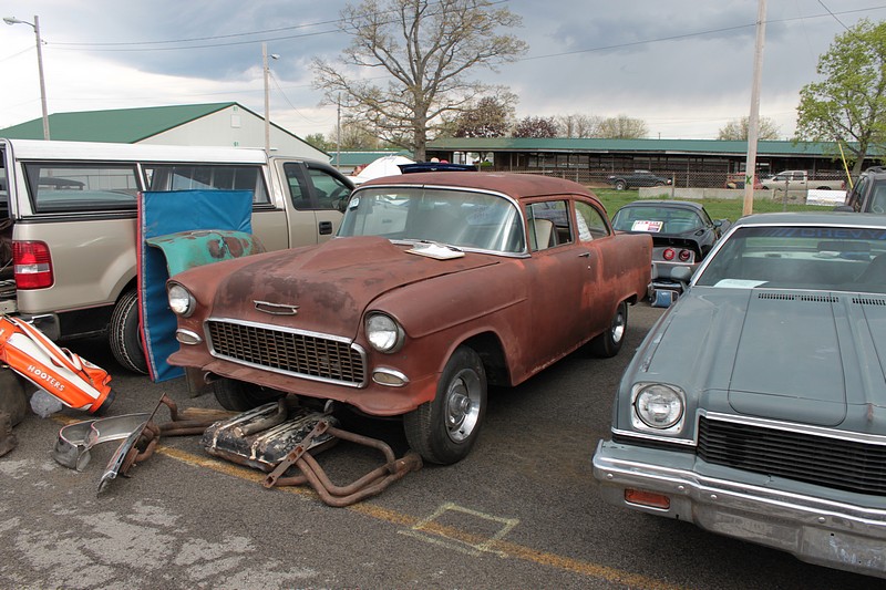
[[[406,441],[424,460],[451,465],[465,458],[486,414],[486,371],[473,349],[459,346],[436,385],[436,396],[403,416]]]

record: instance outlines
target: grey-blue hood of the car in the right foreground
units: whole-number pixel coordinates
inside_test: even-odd
[[[682,385],[702,407],[725,392],[740,414],[884,429],[886,297],[693,288],[683,298],[662,318],[647,377]]]

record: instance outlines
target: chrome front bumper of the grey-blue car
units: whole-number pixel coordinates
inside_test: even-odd
[[[688,520],[810,563],[886,578],[886,510],[700,475],[693,462],[687,453],[600,441],[594,477],[609,504]],[[629,503],[626,489],[666,495],[670,507]]]

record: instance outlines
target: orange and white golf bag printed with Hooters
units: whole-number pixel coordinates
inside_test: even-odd
[[[9,315],[0,315],[0,362],[68,407],[101,414],[114,401],[107,371]]]

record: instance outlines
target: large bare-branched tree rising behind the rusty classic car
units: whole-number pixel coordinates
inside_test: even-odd
[[[522,19],[491,0],[363,0],[341,12],[339,28],[351,38],[340,63],[313,61],[315,85],[379,136],[425,157],[429,137],[493,86],[468,74],[514,61],[527,49],[502,28]],[[384,72],[385,85],[368,72]],[[359,77],[363,75],[364,77]]]

